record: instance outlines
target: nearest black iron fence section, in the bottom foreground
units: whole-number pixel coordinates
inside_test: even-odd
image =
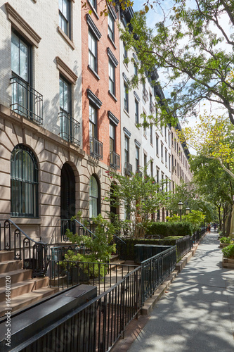
[[[124,334],[141,308],[141,268],[125,275],[113,287],[69,315],[32,334],[18,351],[106,352]],[[62,346],[62,347],[61,347]]]

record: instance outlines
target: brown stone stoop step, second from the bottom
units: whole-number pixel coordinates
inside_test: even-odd
[[[11,298],[27,294],[33,290],[41,289],[42,287],[48,287],[48,277],[37,277],[34,279],[28,279],[22,282],[16,282],[11,284]],[[0,302],[6,301],[6,288],[0,288]]]

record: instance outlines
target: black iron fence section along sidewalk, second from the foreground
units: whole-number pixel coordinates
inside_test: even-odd
[[[142,304],[176,268],[176,246],[141,263]]]

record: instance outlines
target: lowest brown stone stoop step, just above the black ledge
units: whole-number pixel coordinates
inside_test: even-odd
[[[15,312],[16,310],[20,310],[25,306],[30,305],[31,303],[37,302],[44,297],[51,296],[55,294],[58,289],[51,288],[51,287],[43,287],[41,289],[37,289],[35,291],[29,292],[27,294],[22,294],[20,296],[16,296],[15,298],[11,299],[11,306],[7,307],[6,302],[0,303],[0,317],[6,314],[6,311],[11,308],[11,313]]]

